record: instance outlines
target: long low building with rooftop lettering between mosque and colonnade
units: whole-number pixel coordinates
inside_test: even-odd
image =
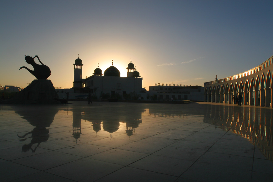
[[[203,101],[204,87],[202,86],[149,86],[150,95],[156,100],[190,100]]]

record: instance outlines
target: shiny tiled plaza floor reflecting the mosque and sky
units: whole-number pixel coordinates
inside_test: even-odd
[[[272,181],[273,110],[219,103],[0,105],[1,181]]]

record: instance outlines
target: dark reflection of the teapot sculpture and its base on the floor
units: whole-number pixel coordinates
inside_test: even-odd
[[[49,138],[49,130],[46,127],[49,127],[54,120],[54,116],[58,113],[58,109],[43,109],[43,106],[34,107],[33,110],[22,110],[22,108],[14,107],[15,113],[23,116],[23,119],[27,120],[35,128],[25,133],[23,136],[17,135],[19,138],[24,138],[19,141],[25,141],[28,138],[32,138],[29,144],[25,144],[22,147],[23,152],[27,152],[29,149],[32,152],[35,152],[40,143],[45,142]],[[25,138],[27,135],[31,136]],[[35,149],[32,149],[32,145],[38,143]]]

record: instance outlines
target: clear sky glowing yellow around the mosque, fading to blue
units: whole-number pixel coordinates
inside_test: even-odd
[[[155,83],[199,85],[252,69],[273,55],[273,1],[1,0],[0,84],[36,79],[25,55],[38,55],[55,87],[73,87],[113,66],[126,77],[132,61],[149,90]],[[39,63],[35,58],[35,62]]]

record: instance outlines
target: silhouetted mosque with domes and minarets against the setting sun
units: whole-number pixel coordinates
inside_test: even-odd
[[[92,76],[82,78],[83,62],[79,57],[74,63],[74,95],[86,95],[91,92],[94,98],[121,99],[128,95],[144,92],[142,78],[132,61],[127,66],[127,77],[121,77],[120,71],[113,66],[107,68],[103,73],[99,66],[94,70]]]

